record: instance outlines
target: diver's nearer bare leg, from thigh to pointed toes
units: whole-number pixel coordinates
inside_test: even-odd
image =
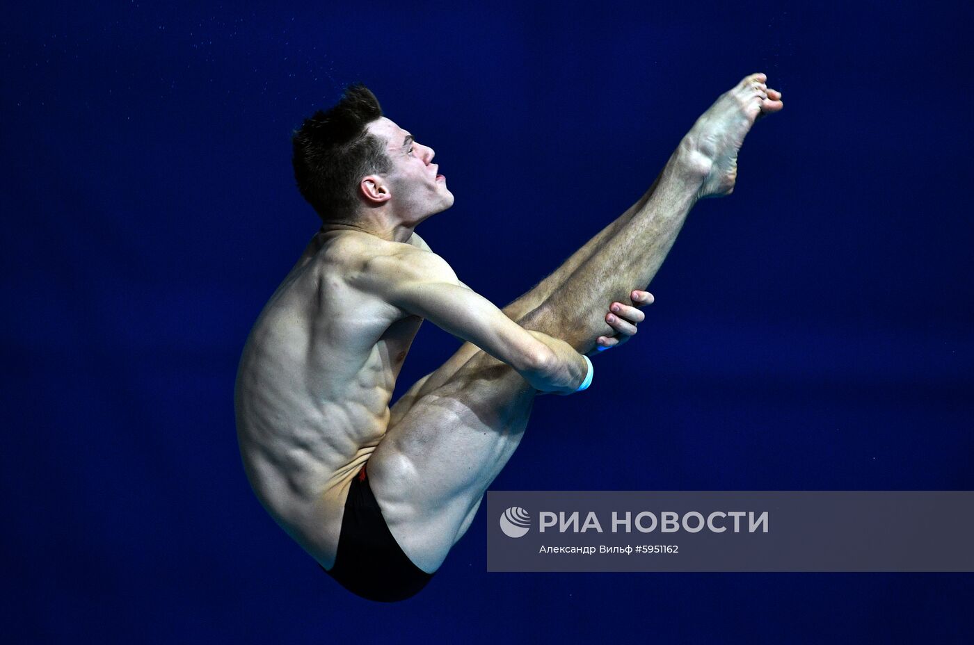
[[[722,95],[681,142],[643,207],[522,315],[522,326],[590,351],[609,331],[605,307],[622,301],[633,285],[649,283],[696,199],[731,192],[744,135],[763,110],[780,109],[768,98],[771,92],[763,75],[755,75]],[[427,571],[463,534],[517,448],[535,395],[523,378],[483,352],[449,367],[450,376],[437,370],[412,406],[396,415],[368,465],[393,536]]]

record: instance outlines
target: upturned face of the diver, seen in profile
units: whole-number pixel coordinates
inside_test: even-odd
[[[392,205],[404,219],[422,219],[453,205],[446,178],[437,174],[439,166],[432,162],[432,148],[416,142],[412,134],[385,117],[367,127],[386,142],[393,169],[383,179],[392,194]]]

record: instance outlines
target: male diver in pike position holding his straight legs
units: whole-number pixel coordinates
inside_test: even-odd
[[[729,195],[737,152],[781,94],[752,74],[681,140],[647,193],[499,309],[415,233],[453,204],[433,151],[362,86],[293,136],[318,233],[264,307],[236,386],[260,502],[341,585],[394,601],[429,582],[524,433],[539,392],[591,381],[586,356],[635,333],[693,204]],[[606,309],[609,309],[607,312]],[[390,408],[424,319],[466,342]]]

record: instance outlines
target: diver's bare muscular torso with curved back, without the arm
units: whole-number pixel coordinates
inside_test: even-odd
[[[386,432],[395,379],[423,322],[355,286],[371,260],[401,246],[318,233],[264,307],[241,359],[235,399],[247,478],[325,567],[348,486]]]

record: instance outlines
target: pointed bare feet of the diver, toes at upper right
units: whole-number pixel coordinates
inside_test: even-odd
[[[764,74],[751,74],[721,94],[681,142],[693,166],[705,173],[697,197],[731,195],[744,136],[755,121],[784,107],[781,92],[768,88],[767,80]]]

